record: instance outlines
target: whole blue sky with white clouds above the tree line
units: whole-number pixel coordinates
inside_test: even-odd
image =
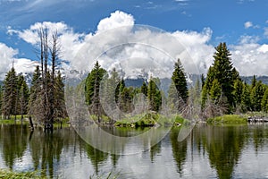
[[[0,0],[0,78],[13,63],[34,70],[41,26],[58,32],[60,57],[79,70],[90,58],[164,76],[180,58],[186,72],[205,73],[226,42],[241,75],[268,75],[267,9],[265,0]]]

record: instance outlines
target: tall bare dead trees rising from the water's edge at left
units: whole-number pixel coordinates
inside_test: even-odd
[[[53,131],[54,124],[54,93],[55,93],[55,69],[59,65],[59,43],[58,35],[55,32],[51,37],[49,44],[48,30],[41,27],[38,31],[39,60],[41,66],[40,89],[36,94],[38,97],[31,103],[30,113],[38,118],[38,121],[44,125],[45,131]]]

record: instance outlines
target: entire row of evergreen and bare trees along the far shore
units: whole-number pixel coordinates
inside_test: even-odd
[[[6,73],[0,87],[0,107],[4,118],[11,115],[29,115],[42,124],[45,129],[53,129],[54,121],[66,117],[64,103],[63,77],[58,69],[59,45],[57,34],[49,37],[46,29],[39,30],[39,65],[33,73],[30,87],[24,77],[17,74],[12,67]],[[174,64],[172,83],[167,98],[160,89],[160,79],[150,76],[139,88],[127,87],[124,79],[113,69],[107,72],[96,62],[85,80],[85,98],[91,115],[96,115],[99,123],[105,110],[100,101],[101,82],[106,81],[105,101],[113,104],[124,113],[133,111],[135,97],[143,94],[147,101],[147,110],[158,112],[162,109],[163,100],[169,101],[169,107],[180,113],[189,106],[200,105],[203,118],[216,115],[246,113],[247,111],[268,112],[268,86],[262,81],[251,84],[242,81],[239,72],[231,63],[230,51],[226,43],[215,47],[214,64],[206,75],[202,74],[196,85],[188,87],[186,73],[180,59]],[[116,84],[114,86],[114,84]],[[112,93],[111,93],[112,91]],[[103,90],[102,90],[103,92]]]

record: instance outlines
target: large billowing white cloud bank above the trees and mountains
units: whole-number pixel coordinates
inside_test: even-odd
[[[245,28],[253,27],[250,21],[244,25]],[[50,21],[37,22],[27,30],[9,30],[8,33],[17,34],[29,44],[37,46],[41,26],[47,28],[49,36],[57,30],[61,58],[69,62],[65,68],[89,71],[98,60],[105,69],[116,67],[126,76],[158,74],[168,77],[177,58],[189,73],[206,73],[214,60],[214,46],[210,44],[213,30],[210,28],[200,32],[167,32],[135,25],[134,17],[121,11],[99,21],[96,31],[92,33],[77,33],[64,22]],[[265,69],[268,64],[265,58],[268,56],[268,45],[259,45],[257,40],[244,36],[239,45],[229,45],[232,62],[242,75],[268,75]],[[10,49],[6,59],[13,58],[17,53]],[[4,72],[4,69],[0,70]]]

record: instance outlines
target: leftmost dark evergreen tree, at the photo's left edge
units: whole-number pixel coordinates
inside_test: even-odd
[[[16,115],[16,104],[17,104],[17,86],[18,77],[16,75],[15,69],[12,69],[7,72],[4,79],[3,86],[3,98],[2,98],[2,114],[4,117],[10,119],[10,115]]]

